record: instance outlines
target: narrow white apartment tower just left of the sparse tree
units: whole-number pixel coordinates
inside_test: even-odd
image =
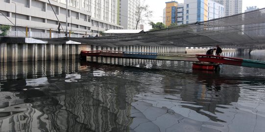
[[[119,24],[123,29],[136,29],[136,10],[140,5],[140,0],[119,0]],[[138,29],[140,23],[138,23]]]

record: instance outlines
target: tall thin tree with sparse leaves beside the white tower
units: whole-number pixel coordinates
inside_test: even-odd
[[[139,22],[145,22],[145,19],[152,17],[153,11],[149,10],[149,5],[141,5],[139,3],[136,7],[136,29],[138,28]]]

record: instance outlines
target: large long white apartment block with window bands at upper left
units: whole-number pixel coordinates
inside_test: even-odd
[[[51,5],[49,4],[49,1]],[[0,0],[0,24],[14,25],[17,31],[28,32],[58,32],[61,23],[61,32],[95,36],[98,31],[106,29],[123,29],[118,24],[118,0]],[[68,1],[68,6],[66,6]],[[68,17],[66,8],[68,7]],[[59,22],[54,12],[59,19]],[[5,18],[6,17],[6,18]],[[11,22],[10,22],[11,21]],[[62,29],[63,28],[63,29]]]

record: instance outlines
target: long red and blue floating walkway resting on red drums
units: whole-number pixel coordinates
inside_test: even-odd
[[[203,64],[195,64],[194,68],[199,69],[216,69],[216,64],[245,66],[265,69],[265,61],[247,60],[241,58],[202,55],[202,54],[170,54],[170,53],[148,53],[148,52],[130,52],[130,51],[112,51],[112,50],[96,50],[81,51],[81,59],[87,56],[95,57],[116,57],[130,59],[151,59],[151,60],[169,60],[169,61],[190,61],[199,63],[210,63],[208,66]],[[212,63],[212,64],[211,64]]]

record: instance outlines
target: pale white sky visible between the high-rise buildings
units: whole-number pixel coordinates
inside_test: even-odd
[[[149,5],[149,10],[153,11],[153,17],[149,18],[150,21],[163,22],[163,9],[166,7],[166,3],[171,0],[141,0],[145,4]],[[175,0],[178,3],[183,3],[184,0]],[[246,10],[247,6],[257,6],[258,8],[265,7],[265,0],[243,0],[242,12]],[[145,31],[151,29],[148,25],[148,21],[145,22]]]

